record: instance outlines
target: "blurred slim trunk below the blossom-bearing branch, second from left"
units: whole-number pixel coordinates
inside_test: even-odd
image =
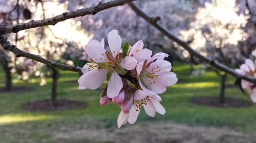
[[[52,69],[52,85],[51,85],[51,103],[52,105],[56,105],[57,101],[57,81],[60,77],[59,71],[55,68]]]

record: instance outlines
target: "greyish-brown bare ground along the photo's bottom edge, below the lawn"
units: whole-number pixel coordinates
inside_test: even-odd
[[[231,130],[225,127],[202,127],[179,125],[170,121],[137,122],[118,129],[115,125],[109,128],[97,127],[100,121],[87,121],[83,126],[62,127],[53,133],[53,140],[60,143],[67,142],[97,142],[97,143],[236,143],[255,142],[254,134]],[[86,126],[89,125],[89,126]],[[92,127],[94,126],[94,127]]]

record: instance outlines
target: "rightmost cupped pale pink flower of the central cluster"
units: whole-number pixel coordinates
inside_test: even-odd
[[[166,86],[177,83],[176,74],[170,72],[171,63],[163,60],[165,57],[168,57],[168,55],[158,53],[152,58],[138,63],[136,71],[139,75],[140,86],[146,86],[154,93],[161,94],[166,91]]]

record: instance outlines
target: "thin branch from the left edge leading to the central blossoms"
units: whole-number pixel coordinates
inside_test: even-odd
[[[72,71],[72,72],[81,73],[81,68],[76,67],[75,65],[71,66],[71,65],[56,63],[54,61],[42,58],[40,55],[30,54],[30,53],[27,53],[27,52],[25,52],[21,49],[18,49],[15,45],[11,44],[7,40],[7,38],[4,37],[3,35],[0,35],[0,44],[2,45],[2,47],[5,50],[8,50],[8,51],[14,53],[17,58],[18,57],[26,57],[28,59],[36,60],[37,62],[49,65],[50,67],[53,67],[53,68],[58,68],[58,69],[61,69],[61,70],[69,70],[69,71]]]

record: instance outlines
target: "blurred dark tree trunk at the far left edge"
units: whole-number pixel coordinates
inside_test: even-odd
[[[10,91],[12,89],[11,68],[8,67],[8,62],[6,60],[2,60],[0,63],[3,67],[4,73],[6,74],[6,91]]]

